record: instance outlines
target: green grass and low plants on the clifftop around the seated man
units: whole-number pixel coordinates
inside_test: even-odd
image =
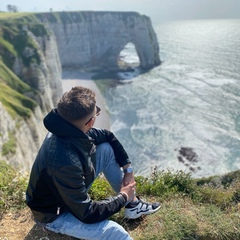
[[[182,171],[155,169],[148,178],[136,177],[137,192],[147,201],[159,201],[160,211],[137,220],[127,220],[121,210],[111,219],[129,231],[134,240],[240,239],[240,199],[236,198],[240,196],[240,171],[233,175],[236,178],[231,178],[229,186],[216,187],[209,179],[193,179]],[[27,176],[21,176],[0,161],[0,211],[19,211],[26,207],[27,180]],[[198,185],[199,181],[206,183]],[[100,176],[89,194],[92,199],[100,200],[114,193],[105,178]]]

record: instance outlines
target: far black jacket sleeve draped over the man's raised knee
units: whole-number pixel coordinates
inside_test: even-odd
[[[88,135],[94,139],[96,145],[108,142],[114,151],[116,161],[120,167],[131,163],[124,147],[112,132],[106,129],[92,128]]]

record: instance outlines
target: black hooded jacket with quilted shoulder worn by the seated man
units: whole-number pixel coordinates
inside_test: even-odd
[[[119,212],[125,204],[121,194],[93,201],[87,193],[95,177],[96,145],[108,142],[120,167],[130,163],[114,134],[96,128],[85,134],[56,109],[44,118],[44,125],[50,133],[35,159],[26,192],[35,220],[52,222],[69,211],[82,222],[95,223]]]

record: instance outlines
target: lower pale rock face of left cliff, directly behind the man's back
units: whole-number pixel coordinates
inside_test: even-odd
[[[16,169],[29,171],[46,134],[42,118],[42,111],[37,107],[27,120],[13,119],[0,102],[0,159]]]

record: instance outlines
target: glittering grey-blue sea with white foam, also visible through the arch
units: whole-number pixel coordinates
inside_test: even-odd
[[[110,130],[126,149],[135,174],[149,176],[157,169],[199,178],[239,170],[240,19],[153,27],[160,66],[96,80]],[[121,57],[139,64],[133,44]]]

